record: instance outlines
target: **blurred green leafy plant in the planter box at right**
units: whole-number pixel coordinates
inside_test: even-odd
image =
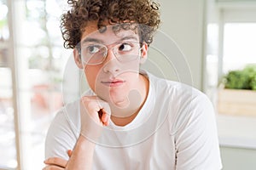
[[[224,76],[224,88],[256,90],[256,65],[247,65],[243,70],[229,71]]]

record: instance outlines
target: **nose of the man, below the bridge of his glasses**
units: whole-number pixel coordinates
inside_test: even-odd
[[[112,75],[120,71],[119,60],[115,57],[113,53],[113,48],[109,48],[107,58],[104,61],[103,71],[111,73]]]

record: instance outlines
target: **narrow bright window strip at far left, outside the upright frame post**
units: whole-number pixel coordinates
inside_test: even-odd
[[[9,8],[0,1],[0,169],[17,167],[12,69],[9,50]]]

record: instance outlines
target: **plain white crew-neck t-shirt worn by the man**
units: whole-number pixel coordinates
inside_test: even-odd
[[[145,74],[149,90],[143,108],[125,127],[113,122],[104,127],[93,169],[221,169],[215,114],[207,96],[182,83]],[[57,113],[45,142],[46,159],[68,159],[67,150],[79,138],[79,114],[79,101]]]

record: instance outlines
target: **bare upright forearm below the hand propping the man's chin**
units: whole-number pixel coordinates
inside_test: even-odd
[[[87,170],[91,169],[93,162],[93,154],[95,149],[95,143],[90,142],[90,140],[84,138],[80,135],[73,149],[73,154],[67,162],[67,170]]]

